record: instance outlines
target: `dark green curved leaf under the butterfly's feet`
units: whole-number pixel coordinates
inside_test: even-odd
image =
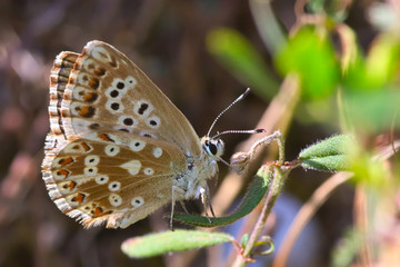
[[[257,176],[250,184],[249,190],[246,194],[242,202],[231,215],[226,217],[207,218],[198,215],[176,214],[173,215],[173,219],[179,220],[183,224],[201,227],[216,227],[232,224],[233,221],[250,214],[250,211],[252,211],[257,207],[257,205],[261,201],[262,197],[266,195],[268,184],[268,168],[260,168],[257,172]],[[168,217],[168,215],[166,217]]]

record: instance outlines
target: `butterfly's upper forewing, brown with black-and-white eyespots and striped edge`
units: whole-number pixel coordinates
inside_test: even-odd
[[[88,42],[81,55],[57,57],[49,112],[50,142],[116,129],[173,142],[188,156],[201,154],[180,110],[131,60],[101,41]]]

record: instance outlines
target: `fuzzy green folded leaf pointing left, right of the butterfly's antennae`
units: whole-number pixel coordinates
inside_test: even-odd
[[[349,135],[339,135],[311,145],[299,155],[300,164],[307,169],[328,171],[349,170],[348,149],[354,140]]]

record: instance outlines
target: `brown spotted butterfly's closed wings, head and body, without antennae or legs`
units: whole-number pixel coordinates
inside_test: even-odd
[[[86,227],[127,227],[194,198],[218,174],[223,142],[187,118],[124,55],[91,41],[61,52],[50,76],[42,164],[50,198]]]

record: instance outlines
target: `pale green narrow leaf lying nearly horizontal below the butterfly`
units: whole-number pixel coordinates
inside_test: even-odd
[[[174,230],[129,238],[122,243],[121,249],[131,258],[146,258],[233,240],[232,236],[223,233]]]

